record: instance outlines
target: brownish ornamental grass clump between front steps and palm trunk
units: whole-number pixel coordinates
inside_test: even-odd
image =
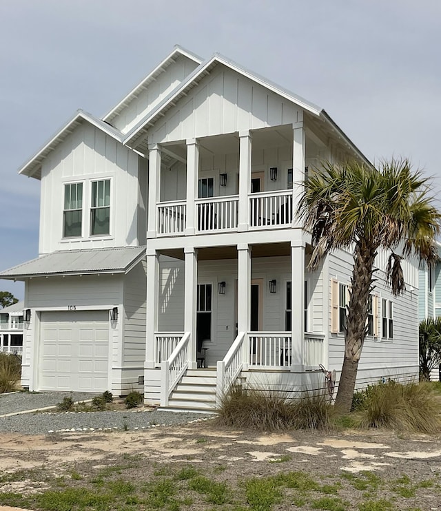
[[[234,428],[256,430],[320,429],[334,424],[334,407],[323,395],[310,394],[302,399],[276,390],[259,391],[232,386],[223,397],[218,422]]]

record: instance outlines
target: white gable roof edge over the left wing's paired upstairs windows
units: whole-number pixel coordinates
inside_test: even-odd
[[[86,121],[98,129],[101,129],[102,132],[111,136],[115,140],[118,140],[122,143],[123,134],[112,125],[106,123],[105,121],[101,121],[92,114],[88,114],[88,112],[84,112],[83,110],[77,110],[76,114],[68,121],[59,131],[52,136],[48,140],[39,151],[30,158],[20,169],[19,174],[24,174],[30,178],[41,179],[41,163],[43,160],[52,152],[57,145],[59,145],[68,135],[70,135],[74,129]]]

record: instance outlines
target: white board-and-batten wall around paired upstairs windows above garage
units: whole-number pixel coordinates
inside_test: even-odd
[[[39,253],[143,244],[145,176],[139,156],[86,121],[77,126],[42,163]],[[141,169],[142,174],[146,173]],[[110,235],[90,236],[93,180],[110,179]],[[82,236],[63,239],[64,185],[83,183]],[[133,200],[138,198],[141,200]],[[139,209],[144,208],[144,212]],[[145,236],[145,233],[141,236]]]

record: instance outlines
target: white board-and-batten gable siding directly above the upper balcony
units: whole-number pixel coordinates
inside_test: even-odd
[[[302,121],[302,109],[218,65],[152,130],[152,143],[201,138]]]

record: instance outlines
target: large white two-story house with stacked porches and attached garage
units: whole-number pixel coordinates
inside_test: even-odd
[[[40,257],[0,278],[25,282],[23,386],[175,408],[212,408],[239,376],[322,387],[352,257],[308,269],[295,212],[320,160],[347,158],[367,162],[324,110],[178,47],[102,119],[77,112],[20,169],[41,180]],[[358,385],[418,376],[416,294],[393,298],[378,267]]]

